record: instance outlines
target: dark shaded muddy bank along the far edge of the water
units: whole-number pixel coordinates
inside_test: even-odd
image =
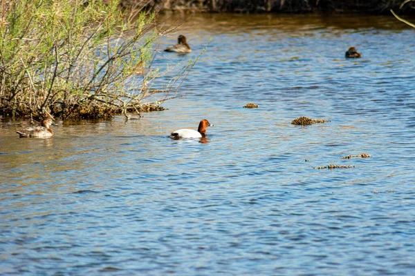
[[[122,0],[122,6],[140,5],[142,1]],[[330,13],[365,13],[391,14],[390,9],[398,14],[415,14],[415,1],[382,0],[152,0],[146,1],[146,7],[160,12],[330,12]]]

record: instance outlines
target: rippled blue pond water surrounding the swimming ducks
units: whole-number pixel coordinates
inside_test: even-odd
[[[199,14],[158,47],[178,34],[193,52],[156,65],[212,40],[168,110],[58,121],[50,139],[1,121],[0,274],[413,275],[415,30]],[[167,137],[201,119],[205,143]]]

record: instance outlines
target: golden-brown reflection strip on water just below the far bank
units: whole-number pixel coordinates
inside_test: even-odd
[[[234,32],[249,32],[257,30],[259,32],[284,31],[295,34],[299,31],[320,32],[329,30],[336,32],[356,32],[362,30],[409,30],[411,27],[405,23],[396,21],[394,17],[380,16],[353,16],[342,14],[303,14],[301,16],[293,14],[197,14],[188,17],[177,17],[174,14],[167,16],[160,15],[159,21],[173,23],[174,21],[184,21],[186,23],[180,32],[194,33],[194,31],[208,31],[223,34],[226,32],[232,35]],[[190,37],[188,37],[190,39]],[[191,41],[191,40],[190,40]]]

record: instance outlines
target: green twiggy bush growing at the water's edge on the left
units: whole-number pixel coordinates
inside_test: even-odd
[[[154,97],[154,12],[119,1],[1,0],[0,113],[108,118],[175,97],[187,66]],[[172,30],[172,29],[170,29]],[[148,106],[148,100],[147,106]]]

